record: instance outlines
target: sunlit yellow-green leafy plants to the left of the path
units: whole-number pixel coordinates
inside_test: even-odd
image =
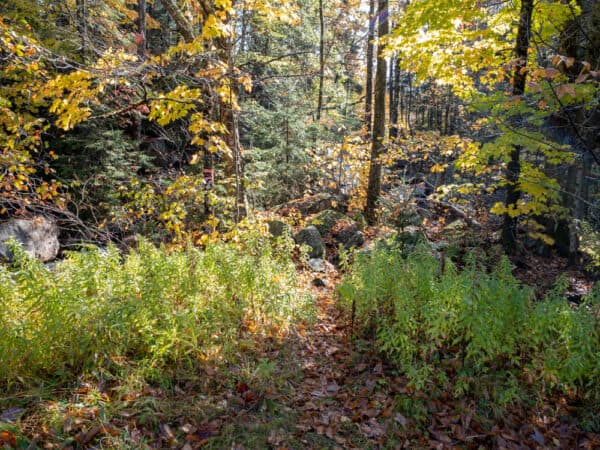
[[[148,373],[223,358],[246,334],[308,312],[292,245],[258,231],[204,251],[142,242],[72,252],[53,270],[18,248],[0,265],[0,389],[128,364]]]

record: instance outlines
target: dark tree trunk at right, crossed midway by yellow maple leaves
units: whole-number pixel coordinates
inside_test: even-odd
[[[529,38],[531,34],[531,16],[533,15],[533,0],[522,0],[519,13],[519,27],[517,30],[517,44],[515,56],[517,65],[513,73],[514,96],[522,96],[525,93],[525,82],[527,79],[527,53],[529,50]],[[520,145],[513,146],[510,152],[510,161],[506,173],[506,209],[504,213],[504,224],[502,227],[502,245],[507,253],[513,253],[517,247],[517,215],[521,191],[519,189],[519,177],[521,175],[521,151]]]

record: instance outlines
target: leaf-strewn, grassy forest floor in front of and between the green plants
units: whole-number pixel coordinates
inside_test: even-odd
[[[314,273],[298,264],[315,299],[314,322],[243,343],[237,364],[206,368],[177,384],[82,382],[68,392],[40,393],[20,426],[28,443],[14,447],[600,448],[600,436],[569,419],[565,399],[490,419],[474,399],[414,392],[373,353],[373,343],[352,338],[351,319],[336,302],[338,270],[327,263]],[[0,439],[15,443],[8,431]]]

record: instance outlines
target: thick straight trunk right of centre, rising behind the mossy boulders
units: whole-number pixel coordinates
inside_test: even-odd
[[[386,15],[388,0],[379,0],[379,29],[378,39],[387,36],[389,22]],[[371,165],[369,167],[369,183],[367,186],[367,204],[365,217],[370,224],[376,220],[375,209],[381,191],[381,161],[380,157],[385,150],[385,81],[387,63],[383,57],[383,45],[377,45],[377,71],[375,74],[375,117],[373,120],[373,139],[371,146]]]

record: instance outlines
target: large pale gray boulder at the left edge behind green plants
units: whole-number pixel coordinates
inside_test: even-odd
[[[42,262],[52,261],[58,255],[58,226],[50,219],[11,219],[0,224],[0,258],[11,261],[12,252],[6,242],[13,238],[23,249]]]

